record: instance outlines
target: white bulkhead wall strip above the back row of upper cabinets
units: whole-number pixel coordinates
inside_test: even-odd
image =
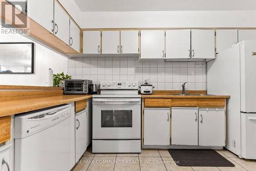
[[[256,27],[256,11],[82,12],[81,28]]]

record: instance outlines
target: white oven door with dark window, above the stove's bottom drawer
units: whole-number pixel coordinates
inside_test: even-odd
[[[140,139],[140,98],[94,98],[93,139]]]

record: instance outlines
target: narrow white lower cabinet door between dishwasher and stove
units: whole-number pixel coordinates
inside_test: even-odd
[[[80,159],[87,148],[87,111],[76,114],[76,161]]]

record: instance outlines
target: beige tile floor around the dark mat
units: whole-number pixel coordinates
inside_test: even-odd
[[[256,171],[256,160],[240,159],[225,149],[217,152],[235,167],[180,167],[165,149],[145,149],[141,154],[93,154],[89,148],[73,171]]]

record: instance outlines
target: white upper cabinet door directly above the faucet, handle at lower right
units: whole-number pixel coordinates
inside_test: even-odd
[[[166,30],[166,58],[190,58],[190,30]]]

